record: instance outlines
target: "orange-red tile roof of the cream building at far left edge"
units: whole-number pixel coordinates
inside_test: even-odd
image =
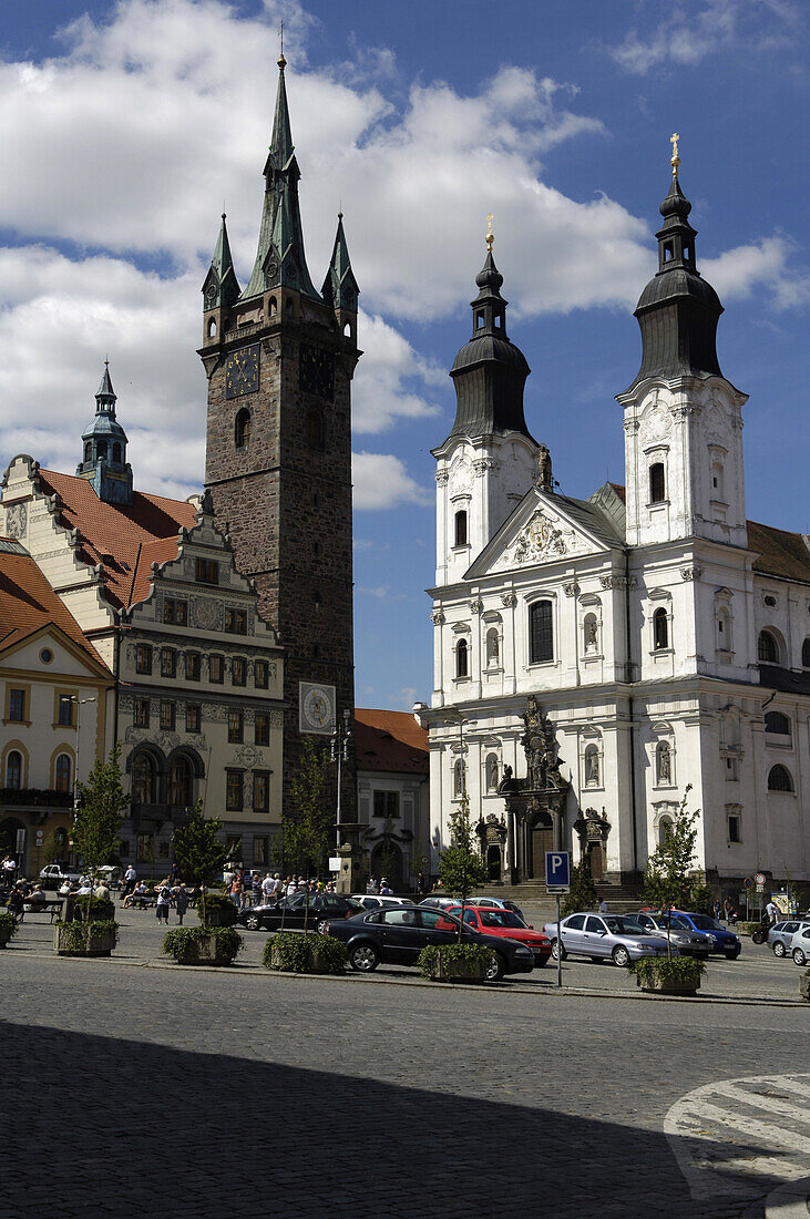
[[[107,672],[95,647],[28,551],[18,541],[0,538],[0,652],[50,625],[63,631]]]

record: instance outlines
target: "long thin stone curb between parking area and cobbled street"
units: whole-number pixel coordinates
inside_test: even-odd
[[[57,961],[65,964],[73,964],[76,962],[85,961],[84,957],[56,957],[50,952],[26,952],[27,957],[34,957],[39,961]],[[583,986],[563,986],[558,989],[553,983],[547,986],[525,986],[520,983],[487,983],[486,985],[470,985],[468,983],[431,983],[423,978],[391,978],[380,976],[374,978],[367,974],[292,974],[281,973],[274,969],[264,969],[263,965],[178,965],[168,961],[158,959],[144,959],[139,961],[134,957],[96,957],[94,958],[94,965],[110,962],[111,964],[127,965],[130,969],[177,969],[181,973],[192,974],[235,974],[239,978],[280,978],[289,981],[323,981],[323,983],[365,983],[370,986],[410,986],[410,987],[425,987],[428,990],[436,990],[436,987],[442,987],[446,991],[473,991],[481,993],[482,990],[486,991],[501,991],[508,992],[510,995],[534,995],[542,996],[543,998],[610,998],[610,1000],[629,1000],[630,1002],[653,1002],[653,1003],[699,1003],[703,1007],[708,1004],[717,1004],[725,1007],[775,1007],[775,1008],[806,1008],[806,1003],[803,1000],[791,1000],[791,998],[767,998],[765,996],[747,997],[747,998],[734,998],[733,996],[713,996],[713,995],[648,995],[643,991],[609,991],[598,990]],[[795,1182],[793,1182],[795,1184]],[[810,1212],[809,1212],[810,1214]],[[775,1217],[778,1219],[793,1219],[792,1214],[781,1212],[775,1212]],[[801,1219],[808,1219],[808,1215],[801,1213]]]

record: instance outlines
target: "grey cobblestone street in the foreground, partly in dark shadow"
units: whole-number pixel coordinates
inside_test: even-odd
[[[782,1181],[772,1137],[719,1124],[758,1175],[693,1198],[664,1123],[704,1085],[800,1070],[806,1008],[132,968],[28,926],[0,952],[4,1219],[756,1219]]]

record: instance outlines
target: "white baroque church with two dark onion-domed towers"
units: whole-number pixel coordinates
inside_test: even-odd
[[[678,165],[676,149],[641,368],[616,399],[625,485],[558,490],[491,234],[451,371],[418,714],[434,852],[467,794],[493,883],[538,881],[562,848],[635,884],[687,787],[716,892],[810,879],[810,539],[745,519],[747,395],[720,368]]]

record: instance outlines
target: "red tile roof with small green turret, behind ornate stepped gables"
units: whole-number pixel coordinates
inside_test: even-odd
[[[149,596],[151,564],[175,558],[179,530],[196,524],[192,503],[163,495],[133,491],[129,506],[105,503],[85,478],[51,469],[39,471],[39,485],[45,495],[61,496],[61,524],[79,530],[79,555],[101,564],[107,600],[116,608]]]

